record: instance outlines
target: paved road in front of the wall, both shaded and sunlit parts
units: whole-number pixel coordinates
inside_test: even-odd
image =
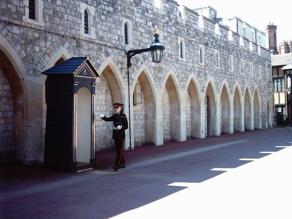
[[[0,218],[292,218],[292,129],[97,154],[94,170],[0,167]]]

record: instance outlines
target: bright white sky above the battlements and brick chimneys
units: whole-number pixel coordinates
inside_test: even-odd
[[[234,18],[245,21],[266,33],[268,24],[277,26],[277,45],[285,41],[292,41],[291,8],[292,1],[218,1],[218,0],[174,0],[179,5],[194,9],[199,6],[211,6],[217,11],[218,18]],[[274,6],[271,3],[274,2]]]

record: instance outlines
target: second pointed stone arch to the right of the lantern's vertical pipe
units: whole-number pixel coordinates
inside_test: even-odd
[[[163,110],[163,135],[164,142],[180,140],[180,86],[172,69],[168,71],[164,80],[162,91],[164,110]]]

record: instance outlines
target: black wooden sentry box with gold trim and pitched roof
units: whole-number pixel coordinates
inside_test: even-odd
[[[95,165],[98,72],[87,57],[78,57],[42,74],[47,75],[44,166],[75,171]]]

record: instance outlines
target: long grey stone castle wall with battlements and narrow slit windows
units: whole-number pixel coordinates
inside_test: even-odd
[[[17,135],[15,150],[20,151],[16,153],[18,159],[25,162],[31,160],[39,162],[42,159],[43,144],[40,142],[43,142],[42,92],[45,77],[41,73],[44,70],[52,67],[60,58],[66,60],[71,57],[88,56],[101,75],[97,79],[98,85],[96,86],[96,114],[111,115],[113,102],[119,102],[125,98],[125,105],[129,104],[125,51],[148,48],[154,40],[155,25],[159,29],[160,41],[165,46],[163,61],[158,64],[152,63],[150,54],[144,53],[132,58],[130,69],[130,85],[135,86],[139,75],[144,72],[145,78],[147,78],[144,84],[147,81],[148,84],[146,83],[145,86],[150,86],[153,96],[155,96],[154,106],[150,108],[157,113],[156,121],[153,122],[152,127],[158,131],[154,130],[155,136],[153,138],[155,139],[150,142],[159,145],[163,143],[163,139],[185,140],[186,136],[190,137],[192,120],[189,114],[192,110],[188,109],[191,104],[187,100],[188,95],[190,95],[187,94],[190,81],[194,81],[192,83],[197,88],[198,100],[203,100],[202,103],[205,99],[205,93],[209,92],[207,91],[208,85],[208,87],[213,88],[215,104],[218,102],[216,99],[220,97],[223,86],[230,92],[230,104],[233,103],[232,98],[236,87],[239,89],[242,99],[248,90],[250,104],[253,104],[253,94],[257,90],[261,105],[260,123],[261,127],[266,126],[267,101],[272,98],[272,84],[269,82],[271,80],[269,73],[271,68],[270,53],[266,49],[220,25],[216,26],[211,20],[201,18],[197,13],[187,8],[181,9],[184,16],[180,18],[178,4],[174,1],[164,0],[160,8],[154,7],[152,0],[38,0],[36,2],[36,20],[28,18],[27,0],[1,2],[0,49],[1,54],[4,54],[14,67],[14,70],[12,68],[5,69],[4,75],[7,77],[10,72],[13,72],[15,78],[20,81],[19,83],[26,83],[22,88],[24,94],[20,98],[23,104],[19,103],[20,106],[16,107],[14,116],[18,114],[18,111],[22,112],[23,109],[25,112],[28,108],[35,111],[34,113],[29,112],[23,117],[23,126],[29,126],[32,130],[21,134],[26,136],[25,142],[20,142],[21,135]],[[85,10],[89,17],[88,34],[84,33]],[[128,25],[129,44],[124,42],[125,23]],[[183,58],[180,58],[181,42],[184,45]],[[200,46],[204,46],[204,63],[200,63]],[[216,67],[215,63],[216,51],[220,57],[219,67]],[[234,60],[232,71],[230,71],[229,66],[230,56]],[[241,63],[243,64],[241,65]],[[251,72],[251,66],[253,72]],[[9,81],[12,80],[9,79]],[[139,81],[141,82],[140,79]],[[174,86],[170,86],[169,81]],[[12,82],[10,86],[11,90],[18,89]],[[161,98],[164,88],[167,91],[165,97],[168,95],[171,101],[175,99],[173,98],[174,93],[180,98],[176,98],[175,104],[171,101],[170,103],[166,102],[164,111],[160,112],[160,108],[155,106],[162,105]],[[131,92],[133,92],[132,87]],[[150,101],[151,95],[145,97],[145,92],[143,95],[143,99],[147,99],[145,107],[149,107],[149,104],[152,103]],[[168,104],[172,104],[176,111],[171,107],[168,108]],[[174,105],[179,105],[179,109]],[[217,108],[219,112],[220,99]],[[143,132],[148,130],[146,128],[144,131],[142,125],[147,120],[145,118],[147,109],[143,109],[143,107],[141,110],[134,109],[131,105],[131,110],[132,128],[137,128],[135,127],[137,121],[141,126],[139,129],[135,129],[135,134],[132,130],[132,137],[135,138],[133,144],[136,142],[135,145],[139,145],[140,141],[144,142],[145,134]],[[128,109],[125,111],[129,113]],[[170,131],[169,125],[160,128],[160,124],[167,123],[168,120],[163,120],[161,123],[158,120],[168,117],[170,122],[170,112],[178,113],[178,116],[172,117],[178,120],[172,122],[171,126],[178,127],[179,137],[171,136],[175,132]],[[201,119],[199,119],[202,121],[198,128],[200,135],[197,134],[201,138],[205,137],[205,133],[203,131],[201,133],[201,129],[204,129],[202,127],[205,127],[203,114],[205,111],[201,113]],[[35,120],[35,118],[39,119]],[[220,113],[216,119],[219,119],[220,123]],[[233,119],[230,120],[233,121]],[[30,123],[33,125],[30,126]],[[98,118],[96,119],[96,127],[97,150],[112,147],[112,124],[104,123]],[[16,130],[19,129],[24,128],[16,127]],[[41,129],[40,133],[34,131],[39,129]],[[233,132],[233,128],[231,129]],[[220,135],[220,125],[217,134]],[[145,142],[147,141],[145,139]]]

